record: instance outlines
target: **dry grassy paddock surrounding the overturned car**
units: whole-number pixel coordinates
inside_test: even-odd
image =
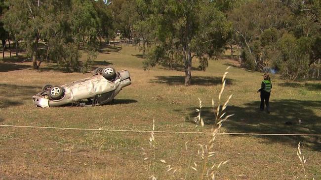
[[[192,85],[183,86],[184,72],[155,67],[142,70],[141,55],[131,46],[100,51],[95,67],[112,65],[131,73],[132,85],[116,96],[112,105],[40,109],[32,95],[46,84],[61,85],[90,76],[65,73],[55,64],[43,63],[32,70],[30,62],[0,62],[0,124],[90,129],[210,132],[218,104],[221,77],[231,60],[209,62],[208,69],[192,72]],[[197,64],[194,64],[197,67]],[[272,77],[271,114],[259,112],[256,92],[262,74],[231,67],[225,101],[233,93],[227,112],[235,114],[221,132],[320,134],[321,84],[318,81],[286,82]],[[204,127],[193,123],[195,108],[203,103]],[[298,120],[303,123],[299,124]],[[285,122],[291,121],[292,125]],[[153,174],[150,159],[143,161],[141,148],[149,150],[150,133],[0,127],[0,180],[77,179],[147,180]],[[159,180],[195,180],[191,169],[199,144],[208,134],[155,133],[155,176]],[[309,179],[321,179],[321,139],[307,136],[219,135],[213,163],[229,160],[219,168],[220,180],[292,180],[303,177],[297,144],[307,159]],[[185,143],[188,150],[186,150]],[[166,173],[163,159],[177,169]],[[212,162],[211,162],[212,163]]]

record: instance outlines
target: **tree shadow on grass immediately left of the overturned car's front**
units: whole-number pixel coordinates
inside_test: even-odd
[[[19,106],[24,100],[31,100],[41,87],[0,84],[0,108]],[[14,100],[13,100],[14,99]]]

